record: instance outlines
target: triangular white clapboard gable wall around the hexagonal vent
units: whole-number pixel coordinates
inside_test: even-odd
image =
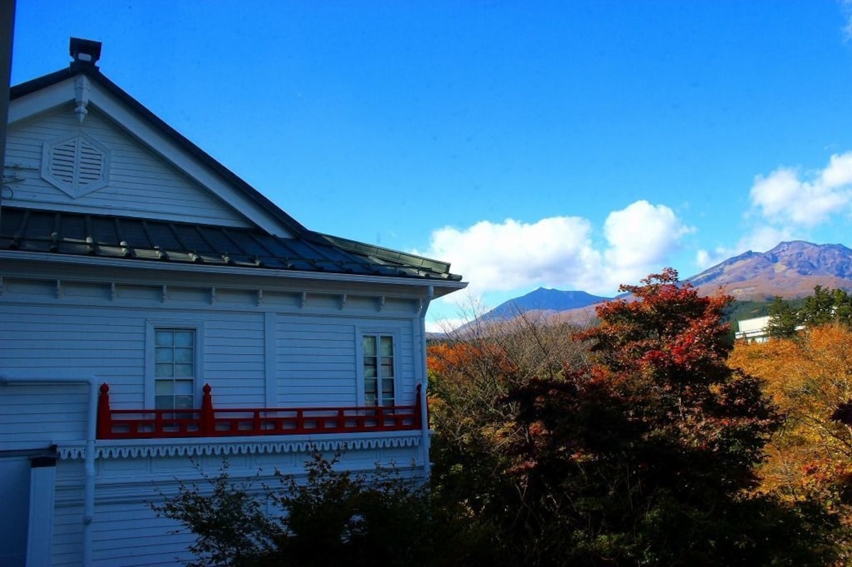
[[[71,205],[92,213],[109,210],[115,215],[144,215],[227,226],[250,226],[243,215],[216,198],[163,158],[114,126],[96,109],[90,110],[82,130],[110,152],[107,187],[71,198],[41,179],[43,142],[81,129],[73,106],[62,106],[34,120],[15,124],[9,131],[6,163],[20,181],[14,194],[4,198],[9,205],[51,203],[58,208]],[[16,167],[17,166],[17,167]]]

